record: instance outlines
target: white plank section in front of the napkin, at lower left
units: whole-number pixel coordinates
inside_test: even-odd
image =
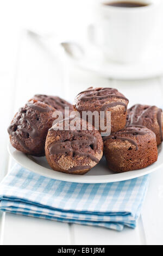
[[[69,245],[68,225],[57,221],[6,214],[4,245]]]

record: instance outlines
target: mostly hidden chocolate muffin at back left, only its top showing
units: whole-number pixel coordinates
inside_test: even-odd
[[[58,96],[48,96],[48,95],[43,95],[43,94],[36,94],[34,95],[35,100],[39,100],[41,102],[46,103],[47,105],[50,105],[54,107],[57,111],[61,111],[63,114],[65,114],[65,107],[69,107],[70,113],[74,110],[73,106],[61,99]]]

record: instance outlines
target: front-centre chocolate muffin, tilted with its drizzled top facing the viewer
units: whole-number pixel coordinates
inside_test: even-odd
[[[85,123],[86,130],[80,129],[82,122]],[[76,127],[72,126],[71,119],[62,120],[48,131],[45,154],[49,165],[54,170],[84,174],[101,160],[103,140],[95,127],[87,130],[86,121],[76,118],[75,123]],[[58,129],[62,124],[63,130]],[[70,129],[66,128],[67,124],[70,124]]]

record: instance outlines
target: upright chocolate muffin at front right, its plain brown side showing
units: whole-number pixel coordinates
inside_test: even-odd
[[[142,169],[158,158],[155,133],[144,126],[128,126],[103,139],[108,167],[115,172]]]

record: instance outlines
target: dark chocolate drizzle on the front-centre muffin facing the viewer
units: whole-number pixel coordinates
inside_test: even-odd
[[[56,143],[52,143],[51,147],[49,148],[50,154],[65,154],[65,153],[73,153],[73,156],[79,155],[79,156],[85,156],[90,157],[90,159],[94,162],[99,162],[97,157],[93,156],[91,153],[87,152],[80,152],[79,150],[73,149],[73,145],[91,145],[93,149],[97,148],[97,138],[93,135],[84,133],[82,131],[77,130],[69,130],[73,134],[73,136],[86,136],[87,139],[74,139],[72,141],[59,141]],[[67,148],[65,146],[68,146]],[[76,167],[77,168],[77,167]],[[72,168],[71,168],[72,169]],[[81,166],[79,166],[78,169],[81,169]]]

